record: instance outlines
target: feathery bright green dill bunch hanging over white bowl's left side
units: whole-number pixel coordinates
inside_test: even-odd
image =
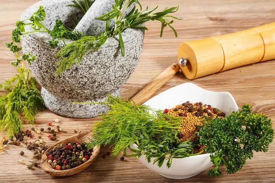
[[[110,109],[102,114],[103,121],[97,122],[93,127],[93,138],[86,143],[88,148],[97,145],[112,145],[113,155],[132,144],[145,145],[151,143],[155,135],[173,134],[174,141],[178,141],[176,131],[182,124],[180,117],[171,117],[160,110],[153,110],[149,106],[135,105],[130,100],[123,101],[119,97],[107,96],[104,103]],[[171,138],[171,137],[170,137]]]

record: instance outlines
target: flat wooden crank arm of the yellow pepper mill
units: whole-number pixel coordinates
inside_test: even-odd
[[[136,104],[143,104],[146,102],[160,87],[163,86],[171,77],[173,77],[179,71],[179,65],[173,63],[167,69],[165,69],[160,75],[155,77],[149,84],[147,84],[141,91],[132,98],[132,101]]]

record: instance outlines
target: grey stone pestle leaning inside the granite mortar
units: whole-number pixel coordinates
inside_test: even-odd
[[[83,18],[79,21],[75,30],[78,30],[88,36],[99,35],[105,30],[105,21],[97,20],[96,17],[102,16],[109,11],[112,11],[112,5],[115,4],[115,0],[95,0],[90,9],[86,12]],[[135,3],[132,3],[130,7],[124,12],[123,16],[133,9]],[[115,26],[115,20],[112,19],[110,27]]]

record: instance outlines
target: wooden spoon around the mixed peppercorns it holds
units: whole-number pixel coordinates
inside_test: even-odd
[[[82,132],[82,133],[73,135],[69,138],[66,138],[64,140],[61,140],[61,141],[55,143],[54,145],[50,146],[44,152],[44,154],[42,156],[41,165],[42,165],[43,170],[47,174],[50,174],[50,175],[53,175],[53,176],[69,176],[69,175],[77,174],[80,171],[87,168],[97,158],[97,155],[100,151],[100,146],[94,147],[92,155],[91,155],[91,157],[88,161],[86,161],[85,163],[82,163],[81,165],[79,165],[75,168],[71,168],[71,169],[68,169],[68,170],[55,170],[55,169],[53,169],[52,166],[48,163],[48,157],[46,156],[46,153],[49,152],[51,149],[53,149],[55,146],[60,146],[60,144],[63,144],[63,143],[83,142],[83,141],[88,142],[89,141],[88,136],[90,136],[91,134],[92,134],[91,131]]]

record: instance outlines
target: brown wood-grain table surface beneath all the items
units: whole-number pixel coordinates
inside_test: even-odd
[[[24,9],[38,0],[1,0],[0,6],[0,83],[13,76],[16,69],[9,64],[15,59],[13,53],[5,48],[4,43],[11,41],[11,31],[15,28],[15,21],[19,20]],[[144,48],[140,63],[134,74],[122,87],[123,98],[131,98],[141,90],[149,81],[160,74],[167,66],[177,61],[177,49],[183,41],[207,38],[214,35],[227,34],[248,29],[266,23],[274,22],[275,1],[273,0],[141,0],[149,7],[156,5],[160,9],[166,6],[180,8],[177,16],[183,20],[174,22],[178,31],[178,38],[173,32],[166,29],[163,38],[160,38],[160,23],[149,22],[149,31],[145,33]],[[181,73],[176,74],[156,94],[178,84],[193,82],[198,86],[212,91],[228,91],[235,98],[239,107],[250,103],[254,110],[267,114],[275,120],[275,61],[244,66],[228,70],[219,74],[212,74],[203,78],[189,81]],[[35,128],[47,128],[48,122],[53,121],[58,115],[45,109],[37,115]],[[64,128],[63,133],[57,134],[57,140],[74,134],[73,130],[85,131],[93,124],[92,119],[72,119],[64,117],[58,125]],[[57,125],[53,123],[53,125]],[[89,125],[89,126],[87,126]],[[31,125],[25,123],[24,129]],[[273,125],[275,127],[275,124]],[[48,144],[53,144],[42,133],[42,139]],[[5,131],[0,132],[5,136]],[[35,138],[37,139],[37,134]],[[20,156],[20,151],[25,155]],[[46,174],[41,167],[29,170],[27,166],[19,163],[20,159],[28,162],[32,152],[24,144],[20,146],[8,145],[0,154],[0,182],[275,182],[275,142],[270,145],[267,153],[255,153],[252,160],[248,160],[242,170],[236,174],[222,174],[220,177],[209,178],[207,170],[193,178],[173,180],[163,178],[149,170],[134,157],[126,157],[120,161],[120,156],[106,156],[110,151],[103,147],[97,159],[86,170],[79,174],[57,178]],[[222,168],[224,172],[225,168]]]

